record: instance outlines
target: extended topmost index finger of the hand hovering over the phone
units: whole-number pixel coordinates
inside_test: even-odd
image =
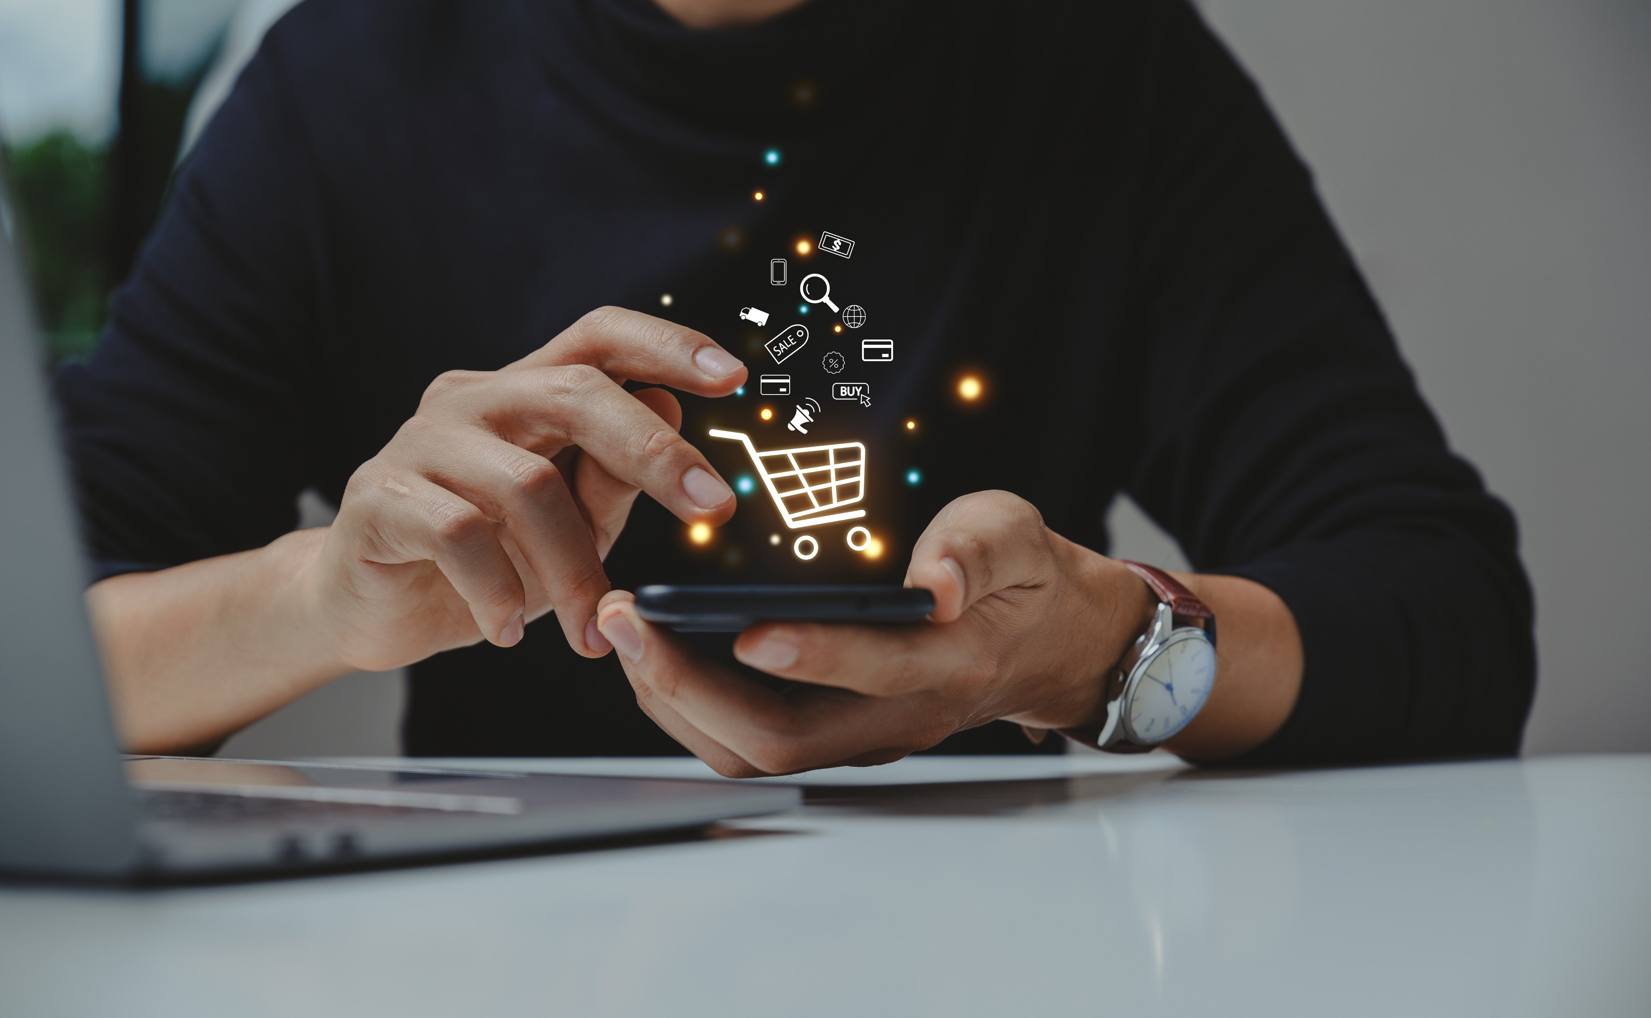
[[[745,384],[745,363],[685,325],[622,307],[599,307],[510,368],[589,365],[616,381],[667,384],[697,396],[726,396]]]

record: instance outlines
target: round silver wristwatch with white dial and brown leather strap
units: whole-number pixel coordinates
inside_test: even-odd
[[[1100,731],[1063,728],[1060,734],[1108,752],[1146,752],[1197,718],[1210,695],[1215,612],[1169,573],[1123,564],[1152,587],[1157,610],[1106,678],[1106,721]]]

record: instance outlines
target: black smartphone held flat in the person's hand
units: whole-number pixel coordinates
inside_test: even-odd
[[[650,584],[636,592],[636,610],[680,632],[740,632],[764,619],[921,622],[934,610],[934,596],[911,587]]]

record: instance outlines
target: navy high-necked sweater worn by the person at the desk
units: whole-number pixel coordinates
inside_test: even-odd
[[[797,252],[822,231],[852,256]],[[865,323],[806,304],[809,272]],[[1199,569],[1296,615],[1299,703],[1247,762],[1519,747],[1512,516],[1446,449],[1306,168],[1182,0],[814,0],[735,31],[647,0],[309,0],[201,137],[97,351],[58,376],[101,574],[271,541],[438,373],[603,304],[746,360],[743,396],[684,398],[726,477],[753,464],[708,427],[863,442],[887,548],[850,551],[840,523],[799,561],[756,482],[705,546],[639,500],[617,586],[898,582],[933,513],[982,488],[1106,549],[1128,492]],[[764,340],[792,323],[811,342],[776,363]],[[766,373],[792,393],[763,396]],[[956,398],[966,373],[979,399]],[[784,424],[809,396],[804,439]],[[553,620],[411,675],[409,752],[682,752]],[[1030,749],[1007,724],[941,747]]]

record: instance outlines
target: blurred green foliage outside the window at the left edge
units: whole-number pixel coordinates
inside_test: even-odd
[[[102,332],[107,152],[53,132],[10,152],[12,193],[53,360],[88,353]]]

